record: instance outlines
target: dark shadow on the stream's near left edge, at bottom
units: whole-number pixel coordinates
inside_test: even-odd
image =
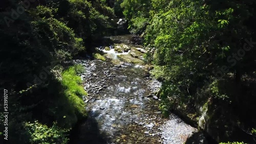
[[[99,130],[96,119],[89,114],[88,118],[77,123],[71,131],[69,144],[104,144],[109,138]]]

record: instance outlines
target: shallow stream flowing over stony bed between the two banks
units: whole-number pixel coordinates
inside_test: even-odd
[[[140,47],[130,43],[130,37],[114,39]],[[102,51],[112,55],[113,59],[120,55],[113,49]],[[197,132],[173,114],[162,117],[158,109],[160,99],[154,95],[161,83],[148,77],[147,70],[127,62],[115,67],[111,59],[75,62],[86,67],[81,78],[89,93],[83,98],[89,116],[79,126],[72,143],[183,143]]]

